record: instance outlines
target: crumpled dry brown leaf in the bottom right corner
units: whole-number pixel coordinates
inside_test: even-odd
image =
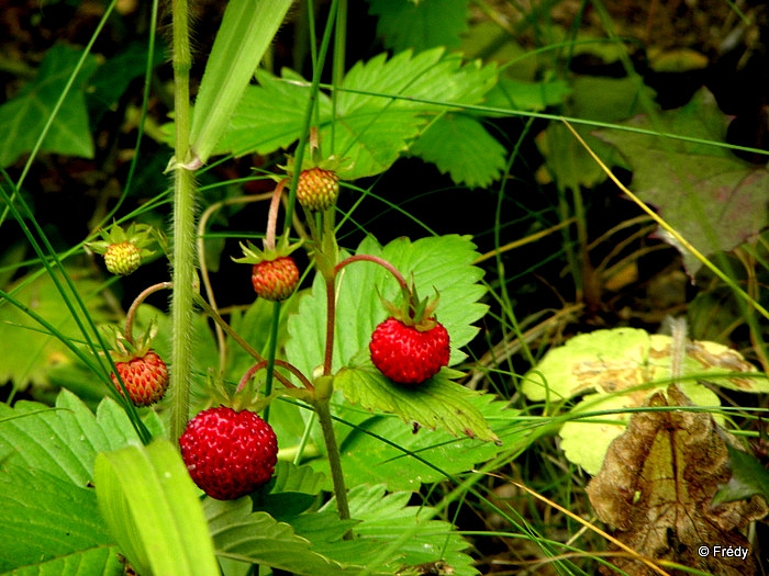
[[[691,405],[676,385],[667,395],[654,394],[646,406]],[[706,413],[636,413],[588,485],[590,502],[616,529],[618,541],[647,558],[723,576],[755,574],[753,555],[742,555],[749,545],[740,530],[766,516],[766,502],[754,496],[711,507],[718,484],[731,476],[726,442],[733,442],[729,434]],[[614,564],[632,576],[655,574],[629,557],[617,557]],[[602,573],[614,574],[609,568]]]

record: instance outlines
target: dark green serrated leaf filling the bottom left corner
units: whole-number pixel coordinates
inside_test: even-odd
[[[0,429],[4,426],[7,422],[0,423]],[[115,574],[113,541],[92,488],[42,470],[4,463],[0,507],[0,572],[78,574],[65,567],[73,571],[86,563],[99,568],[90,574]],[[42,572],[44,566],[46,572]],[[63,572],[54,572],[56,566]]]

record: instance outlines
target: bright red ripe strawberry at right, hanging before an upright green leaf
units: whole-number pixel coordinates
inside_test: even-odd
[[[434,318],[420,330],[390,317],[374,330],[369,351],[379,371],[397,384],[416,385],[448,364],[448,332]]]

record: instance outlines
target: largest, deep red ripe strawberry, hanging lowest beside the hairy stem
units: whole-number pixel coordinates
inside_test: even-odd
[[[234,500],[267,484],[278,461],[272,427],[250,410],[225,406],[192,418],[179,445],[194,483],[218,500]]]

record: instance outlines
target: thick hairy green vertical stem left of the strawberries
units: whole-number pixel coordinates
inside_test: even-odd
[[[170,434],[178,439],[189,418],[189,382],[192,366],[190,326],[194,297],[194,176],[180,167],[190,160],[190,56],[187,0],[172,0],[174,32],[174,112],[176,127],[176,168],[174,170],[174,248],[171,267],[171,366]]]

